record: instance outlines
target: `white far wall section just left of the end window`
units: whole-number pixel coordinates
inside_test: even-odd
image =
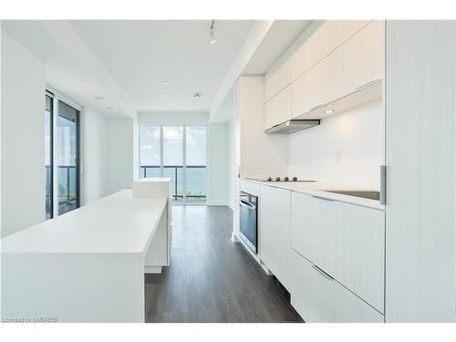
[[[106,194],[131,189],[133,181],[133,119],[106,120]]]

